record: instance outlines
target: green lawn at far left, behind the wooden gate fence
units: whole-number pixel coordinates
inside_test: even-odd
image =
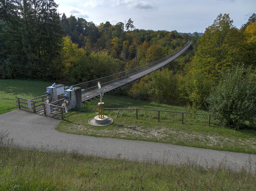
[[[32,80],[0,80],[0,114],[16,109],[15,96],[31,99],[42,96],[49,82]]]

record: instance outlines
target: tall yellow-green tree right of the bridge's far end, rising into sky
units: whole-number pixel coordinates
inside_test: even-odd
[[[229,14],[220,14],[213,24],[206,28],[203,36],[198,40],[198,52],[193,59],[190,72],[202,73],[206,77],[218,79],[223,67],[233,66],[232,55],[235,56],[233,37],[237,29]],[[232,52],[230,52],[232,51]]]

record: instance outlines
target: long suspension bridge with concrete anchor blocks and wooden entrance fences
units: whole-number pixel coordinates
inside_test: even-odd
[[[18,106],[19,109],[32,109],[34,113],[44,113],[44,115],[50,114],[51,116],[64,118],[64,114],[65,112],[67,113],[68,110],[72,108],[81,108],[82,103],[100,96],[97,85],[98,82],[101,83],[101,87],[104,89],[105,93],[111,92],[116,88],[127,85],[162,68],[166,64],[169,64],[182,53],[186,52],[190,45],[191,42],[187,42],[175,53],[149,64],[141,65],[117,74],[65,87],[64,85],[56,85],[54,83],[52,86],[47,87],[46,95],[35,97],[33,99],[16,97],[16,106]]]

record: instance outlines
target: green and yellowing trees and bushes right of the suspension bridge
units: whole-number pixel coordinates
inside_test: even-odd
[[[208,108],[222,116],[222,125],[256,127],[256,14],[240,29],[229,14],[218,15],[193,51],[183,70],[153,72],[128,89],[128,95],[186,105],[193,112]]]

